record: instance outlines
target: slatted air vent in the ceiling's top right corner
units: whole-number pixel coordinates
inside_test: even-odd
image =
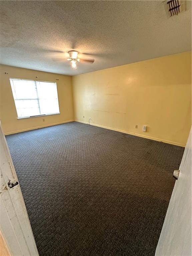
[[[169,17],[178,15],[185,11],[185,1],[183,0],[170,0],[164,1],[165,9]]]

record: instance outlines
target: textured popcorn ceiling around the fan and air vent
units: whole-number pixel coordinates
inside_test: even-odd
[[[186,9],[169,18],[162,1],[0,1],[0,62],[76,75],[190,51]],[[95,62],[53,61],[72,49]]]

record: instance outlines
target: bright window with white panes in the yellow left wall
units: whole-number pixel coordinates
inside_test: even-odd
[[[57,84],[10,78],[18,118],[58,114]]]

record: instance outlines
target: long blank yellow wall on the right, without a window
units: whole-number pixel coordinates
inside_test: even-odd
[[[191,52],[77,75],[72,84],[75,120],[91,117],[94,125],[185,146],[191,127]]]

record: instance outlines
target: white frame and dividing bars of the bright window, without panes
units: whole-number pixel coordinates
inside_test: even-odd
[[[10,85],[11,85],[11,92],[12,92],[14,104],[15,104],[15,101],[16,101],[16,100],[30,100],[30,99],[15,99],[15,98],[14,98],[14,93],[13,93],[13,90],[12,90],[12,82],[11,82],[11,80],[33,81],[33,82],[35,82],[36,92],[37,92],[37,84],[36,84],[36,82],[55,83],[56,89],[57,89],[57,82],[41,81],[41,80],[31,80],[31,79],[23,79],[23,78],[12,78],[12,77],[10,77],[10,78],[9,78],[9,82],[10,82]],[[37,92],[37,97],[38,97],[38,92]],[[37,100],[37,101],[38,101],[38,105],[39,105],[39,100],[40,100],[39,97],[38,97],[38,98],[34,98],[34,99],[32,99],[32,100]],[[19,117],[19,116],[18,116],[17,108],[16,108],[16,104],[15,104],[15,109],[16,109],[16,113],[17,113],[17,119],[33,118],[33,117],[42,117],[42,116],[50,116],[50,115],[58,115],[58,114],[60,114],[58,90],[57,90],[57,100],[58,100],[59,112],[57,112],[57,113],[49,113],[49,114],[40,114],[40,115],[34,115],[34,116],[24,116],[24,117]],[[40,105],[39,105],[39,112],[41,113]]]

